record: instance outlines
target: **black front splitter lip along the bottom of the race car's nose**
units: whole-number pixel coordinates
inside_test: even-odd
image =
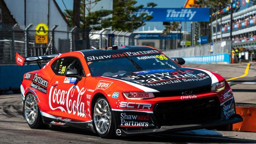
[[[155,129],[138,129],[138,130],[123,130],[115,129],[117,136],[131,136],[131,135],[146,135],[152,133],[166,133],[174,131],[189,131],[194,129],[202,129],[213,126],[223,126],[227,124],[234,124],[237,122],[242,122],[243,118],[239,114],[234,114],[226,120],[215,119],[208,120],[207,122],[195,122],[191,124],[184,125],[174,125],[174,126],[161,126],[160,128]]]

